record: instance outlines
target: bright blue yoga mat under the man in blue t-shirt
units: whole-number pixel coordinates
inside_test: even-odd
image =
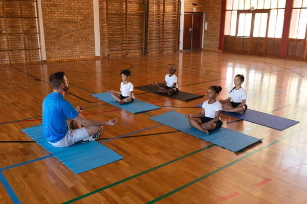
[[[65,148],[54,147],[43,136],[41,124],[22,131],[76,174],[123,159],[115,151],[97,141],[77,142]]]

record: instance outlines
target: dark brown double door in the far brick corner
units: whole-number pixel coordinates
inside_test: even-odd
[[[183,49],[202,48],[202,13],[184,14]]]

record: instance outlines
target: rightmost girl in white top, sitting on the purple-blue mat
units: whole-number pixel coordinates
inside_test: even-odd
[[[234,78],[235,87],[230,90],[228,98],[225,100],[219,100],[222,104],[223,111],[243,114],[247,110],[247,92],[241,86],[243,82],[244,75],[237,74]]]

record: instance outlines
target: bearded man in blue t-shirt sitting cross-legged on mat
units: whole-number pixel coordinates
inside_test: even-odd
[[[107,122],[86,119],[80,114],[83,111],[82,106],[75,109],[65,100],[69,82],[63,71],[51,74],[49,81],[53,92],[42,102],[42,127],[44,136],[53,146],[68,147],[79,141],[84,143],[97,140],[103,129],[102,125],[117,123],[117,118]]]

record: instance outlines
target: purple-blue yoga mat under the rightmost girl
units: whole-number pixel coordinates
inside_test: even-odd
[[[203,104],[199,104],[196,106],[202,108]],[[225,111],[222,111],[222,114],[228,115],[230,117],[246,120],[249,122],[253,122],[256,124],[260,124],[266,127],[271,127],[279,131],[286,130],[288,127],[291,127],[299,123],[299,121],[290,120],[287,118],[282,118],[282,117],[279,117],[276,115],[270,115],[267,113],[261,113],[259,111],[254,111],[250,109],[247,109],[247,111],[245,111],[243,115],[239,113],[231,113],[231,112],[225,112]]]

